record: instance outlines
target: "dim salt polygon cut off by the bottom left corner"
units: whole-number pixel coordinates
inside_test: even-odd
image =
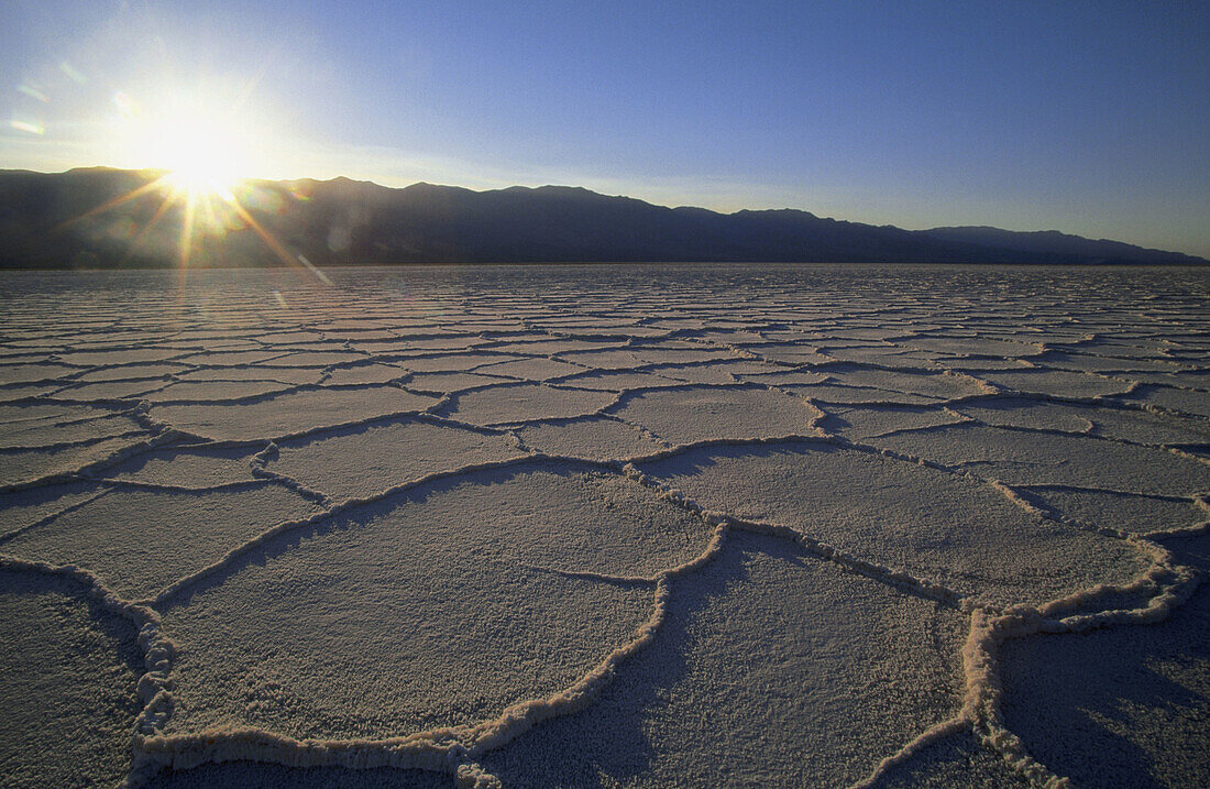
[[[0,569],[5,787],[116,787],[143,673],[136,630],[70,582]]]

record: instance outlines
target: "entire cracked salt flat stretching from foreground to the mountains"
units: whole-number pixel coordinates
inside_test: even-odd
[[[1210,272],[0,275],[0,784],[1210,783]]]

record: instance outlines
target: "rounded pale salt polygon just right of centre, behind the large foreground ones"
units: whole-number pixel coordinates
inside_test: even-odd
[[[644,392],[616,416],[674,444],[719,438],[811,436],[820,411],[806,401],[759,388],[702,387]]]

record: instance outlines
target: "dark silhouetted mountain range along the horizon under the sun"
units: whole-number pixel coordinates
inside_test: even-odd
[[[1202,258],[995,228],[909,231],[805,211],[667,208],[571,186],[472,191],[414,184],[388,189],[336,178],[252,182],[244,218],[212,200],[190,219],[162,209],[151,171],[0,171],[0,267],[177,265],[180,230],[195,229],[192,266],[413,263],[753,261],[1204,264]],[[143,189],[143,192],[139,190]],[[123,195],[136,196],[121,201]],[[121,201],[121,202],[117,202]],[[113,205],[109,205],[113,203]]]

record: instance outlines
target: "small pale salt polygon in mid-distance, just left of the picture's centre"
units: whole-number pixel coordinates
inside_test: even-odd
[[[615,399],[616,394],[611,392],[522,384],[456,394],[446,415],[472,425],[503,425],[586,416]]]

